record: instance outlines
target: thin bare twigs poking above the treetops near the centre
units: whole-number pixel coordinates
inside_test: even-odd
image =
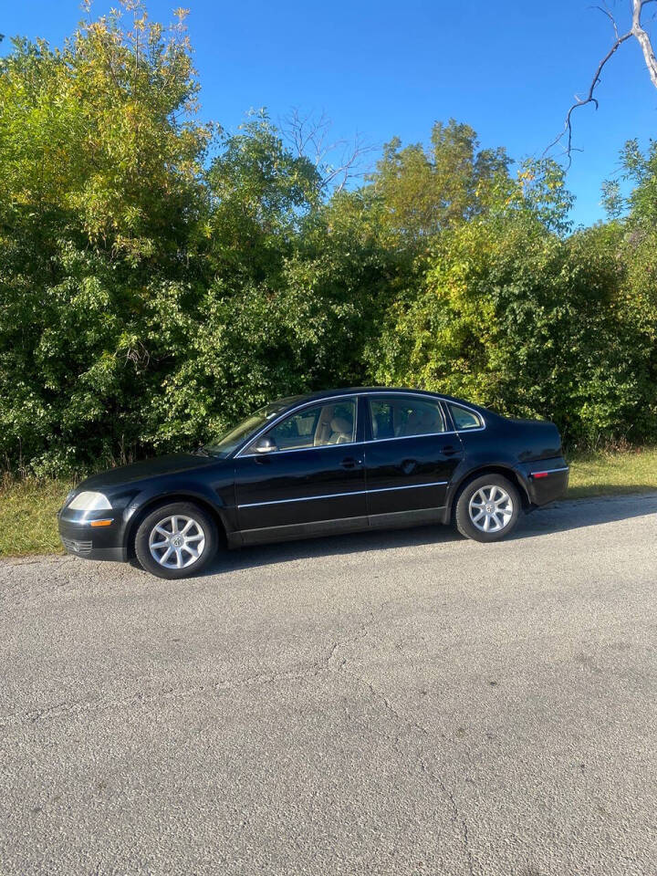
[[[280,123],[281,131],[299,157],[307,158],[318,170],[322,188],[341,192],[351,179],[363,175],[363,157],[376,147],[357,131],[353,140],[330,140],[331,120],[325,112],[306,114],[291,110]]]

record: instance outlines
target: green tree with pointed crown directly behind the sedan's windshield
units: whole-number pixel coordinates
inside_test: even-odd
[[[210,439],[276,396],[366,381],[400,266],[368,193],[322,203],[314,167],[266,119],[224,141],[210,186],[212,277],[195,308],[166,306],[184,342],[154,402],[158,446]]]

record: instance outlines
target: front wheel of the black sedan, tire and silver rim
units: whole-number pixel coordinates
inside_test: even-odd
[[[185,519],[176,521],[178,529],[173,530],[172,524],[166,521],[178,517]],[[187,528],[191,535],[185,537],[182,530],[188,521],[192,521],[192,525]],[[162,541],[162,547],[159,547],[160,541],[156,540],[158,538]],[[141,568],[151,572],[151,575],[166,579],[188,578],[190,575],[198,575],[212,561],[218,541],[216,524],[203,508],[193,502],[171,502],[157,506],[141,521],[135,535],[135,554]],[[199,545],[199,556],[194,559],[194,549]],[[158,561],[156,557],[163,558],[165,554],[167,557],[163,564],[162,559]],[[178,557],[183,565],[170,565],[176,563]]]

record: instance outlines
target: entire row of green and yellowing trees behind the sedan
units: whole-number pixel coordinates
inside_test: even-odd
[[[266,114],[227,132],[197,95],[183,13],[131,0],[0,60],[5,465],[120,462],[371,381],[657,438],[653,146],[617,218],[571,234],[558,165],[512,172],[454,120],[330,193]]]

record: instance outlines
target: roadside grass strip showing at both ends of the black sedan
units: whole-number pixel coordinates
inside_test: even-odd
[[[0,482],[0,557],[61,553],[55,512],[67,481]],[[588,454],[570,463],[568,498],[657,490],[657,447]]]

